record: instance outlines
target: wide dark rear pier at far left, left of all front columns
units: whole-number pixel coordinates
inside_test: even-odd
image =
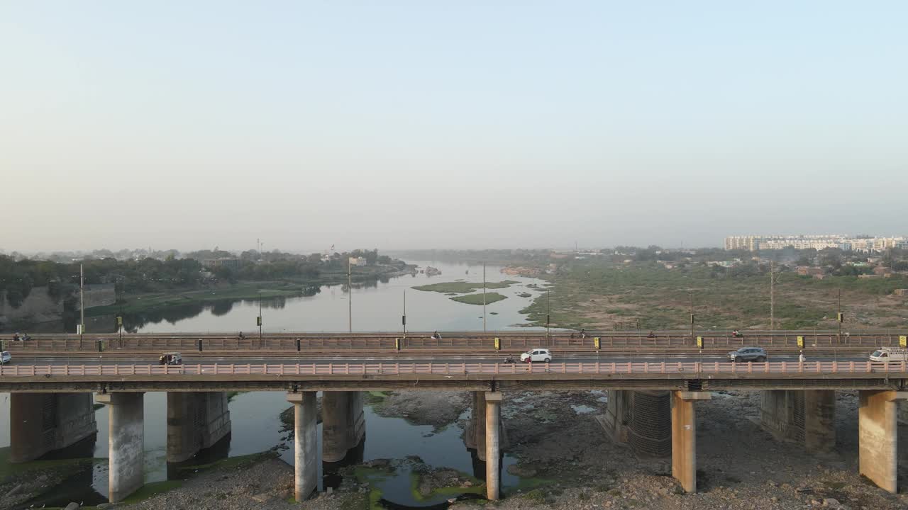
[[[35,460],[97,434],[91,393],[10,393],[9,398],[10,462]]]

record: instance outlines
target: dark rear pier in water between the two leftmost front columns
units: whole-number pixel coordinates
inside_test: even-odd
[[[167,462],[183,462],[231,432],[227,393],[167,393]]]

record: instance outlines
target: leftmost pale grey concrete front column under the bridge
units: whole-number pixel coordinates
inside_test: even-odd
[[[110,413],[108,499],[120,503],[144,485],[144,394],[105,393],[97,400]]]

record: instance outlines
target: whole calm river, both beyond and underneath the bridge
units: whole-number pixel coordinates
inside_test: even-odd
[[[437,276],[425,273],[407,275],[390,279],[387,283],[377,282],[374,285],[358,286],[352,291],[352,329],[355,331],[395,331],[400,330],[400,317],[403,314],[404,292],[407,301],[407,324],[411,330],[467,330],[482,329],[482,306],[469,305],[452,301],[450,296],[440,292],[411,289],[414,286],[429,283],[464,280],[482,282],[482,266],[450,264],[431,261],[415,261],[420,269],[432,266],[441,270]],[[489,266],[486,270],[489,281],[515,280],[518,283],[506,289],[494,289],[507,299],[487,306],[487,329],[515,329],[526,321],[519,313],[538,296],[538,290],[527,285],[539,283],[522,277],[506,276],[500,268]],[[532,296],[519,297],[528,292]],[[312,296],[288,299],[271,299],[262,302],[262,328],[265,331],[345,331],[348,329],[350,293],[346,286],[322,286]],[[255,329],[255,318],[259,314],[259,303],[254,300],[239,300],[217,305],[204,305],[195,309],[194,315],[185,311],[168,316],[163,310],[160,319],[144,320],[143,324],[133,325],[140,332],[207,332],[207,331],[241,331]],[[106,320],[106,319],[102,319]],[[10,444],[9,435],[9,396],[0,394],[0,458],[6,459]],[[281,458],[292,464],[292,444],[287,441],[287,433],[281,432],[279,415],[283,409],[290,407],[281,392],[242,393],[233,397],[230,403],[232,434],[229,440],[222,441],[203,453],[202,457],[192,459],[192,464],[204,464],[211,457],[243,456],[262,452],[279,446]],[[146,393],[144,397],[145,412],[145,482],[157,482],[168,479],[168,465],[165,460],[166,448],[166,394]],[[365,408],[366,439],[362,450],[362,459],[378,458],[400,459],[405,456],[419,456],[432,467],[449,467],[473,474],[474,462],[470,452],[461,439],[462,428],[454,425],[439,431],[429,426],[414,426],[402,418],[380,417]],[[107,457],[107,409],[102,407],[95,412],[98,434],[94,442],[94,457]],[[467,416],[469,417],[469,411]],[[319,426],[321,443],[321,425]],[[89,446],[90,447],[90,446]],[[206,458],[208,457],[208,458]],[[0,460],[5,462],[5,460]],[[503,466],[514,464],[516,460],[506,454]],[[321,466],[321,462],[319,463]],[[6,466],[0,466],[6,467]],[[173,467],[173,466],[171,466]],[[320,467],[321,469],[321,467]],[[173,469],[171,477],[175,476]],[[328,485],[335,485],[337,480],[328,476],[322,478]],[[516,476],[502,473],[502,486],[505,490],[518,484]],[[439,496],[436,500],[415,501],[410,493],[410,473],[399,469],[395,476],[380,482],[384,497],[396,507],[418,507],[443,504],[451,495]],[[54,487],[47,495],[41,496],[28,505],[65,506],[70,501],[84,501],[94,505],[107,500],[107,465],[101,460],[96,463],[91,476],[74,476],[63,485]]]

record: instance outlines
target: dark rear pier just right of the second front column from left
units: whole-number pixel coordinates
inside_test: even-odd
[[[321,460],[340,462],[366,433],[362,392],[325,391],[321,394]]]

